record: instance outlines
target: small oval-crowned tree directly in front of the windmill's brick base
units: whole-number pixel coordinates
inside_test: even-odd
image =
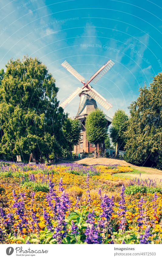
[[[88,114],[85,121],[87,140],[95,144],[95,158],[97,152],[97,144],[104,142],[107,137],[107,119],[104,112],[95,109]]]

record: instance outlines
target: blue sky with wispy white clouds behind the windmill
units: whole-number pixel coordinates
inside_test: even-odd
[[[139,87],[162,70],[161,11],[160,0],[1,0],[0,68],[10,58],[38,57],[63,101],[81,87],[61,66],[64,60],[89,79],[112,59],[113,69],[91,86],[113,105],[104,110],[108,116],[118,108],[129,113]],[[78,104],[76,97],[65,111],[75,116]]]

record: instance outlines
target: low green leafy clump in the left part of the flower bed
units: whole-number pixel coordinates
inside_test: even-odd
[[[49,185],[47,183],[41,182],[24,182],[22,187],[27,189],[33,189],[34,192],[49,192]]]

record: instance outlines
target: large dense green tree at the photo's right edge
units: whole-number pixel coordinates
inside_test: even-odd
[[[154,77],[133,102],[126,131],[125,160],[137,165],[161,167],[162,164],[162,73]]]

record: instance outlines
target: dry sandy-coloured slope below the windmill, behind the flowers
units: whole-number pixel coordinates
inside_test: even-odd
[[[140,167],[140,166],[136,166],[136,165],[132,165],[127,163],[124,160],[120,160],[117,158],[84,158],[84,159],[80,159],[78,161],[75,161],[74,163],[78,163],[78,164],[89,164],[89,165],[96,165],[96,164],[104,164],[104,165],[110,165],[110,164],[119,164],[119,165],[127,165],[127,166],[131,166],[133,169],[136,169],[142,172],[146,172],[148,174],[155,174],[155,175],[159,175],[162,177],[162,171],[155,169],[155,168],[151,168],[151,167]]]

